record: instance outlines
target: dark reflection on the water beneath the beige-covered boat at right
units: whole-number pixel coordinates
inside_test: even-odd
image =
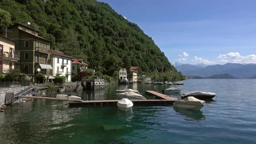
[[[178,107],[173,107],[174,111],[177,112],[178,115],[184,115],[185,118],[184,120],[191,121],[201,121],[205,120],[205,115],[203,115],[203,112],[200,110],[190,110],[190,109],[185,109],[185,108],[178,108]],[[187,119],[188,118],[188,119]]]

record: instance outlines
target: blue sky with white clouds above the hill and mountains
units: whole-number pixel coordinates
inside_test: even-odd
[[[172,63],[256,63],[256,0],[98,1],[138,24]]]

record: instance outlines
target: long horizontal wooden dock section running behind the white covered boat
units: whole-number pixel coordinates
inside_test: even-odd
[[[116,105],[120,100],[97,100],[97,101],[83,101],[83,102],[69,102],[69,106],[88,106],[88,105]],[[164,99],[136,99],[130,100],[134,105],[171,105],[174,100]]]

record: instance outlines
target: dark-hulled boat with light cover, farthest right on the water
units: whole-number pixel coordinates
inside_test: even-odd
[[[181,99],[187,98],[189,96],[194,96],[195,98],[198,98],[198,99],[210,99],[210,98],[214,98],[216,94],[212,92],[192,91],[192,92],[186,92],[182,94]]]

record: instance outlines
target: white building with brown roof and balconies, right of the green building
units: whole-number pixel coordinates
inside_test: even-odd
[[[71,56],[67,56],[62,52],[50,49],[51,54],[51,65],[53,67],[53,76],[65,76],[66,82],[71,82],[71,66],[73,59]]]

